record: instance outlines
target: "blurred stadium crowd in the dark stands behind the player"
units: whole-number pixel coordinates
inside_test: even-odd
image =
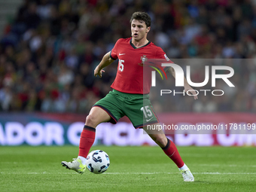
[[[130,37],[135,11],[150,14],[148,39],[170,59],[239,60],[230,64],[232,91],[169,97],[158,111],[256,111],[255,0],[25,0],[0,42],[0,111],[88,113],[111,90],[117,62],[102,78],[93,70]],[[195,69],[192,80],[202,82],[204,66]]]

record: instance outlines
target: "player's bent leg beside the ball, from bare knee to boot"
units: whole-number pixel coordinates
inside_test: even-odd
[[[96,126],[99,125],[99,123],[108,122],[109,120],[111,120],[111,117],[102,108],[91,108],[81,133],[78,158],[73,159],[72,162],[62,161],[62,166],[66,166],[67,169],[72,169],[83,174],[86,169],[85,161],[87,154],[95,140]]]

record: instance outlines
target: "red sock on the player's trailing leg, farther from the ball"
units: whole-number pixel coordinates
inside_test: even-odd
[[[181,166],[184,166],[184,162],[181,159],[181,156],[178,153],[178,149],[176,148],[175,144],[167,139],[167,145],[162,148],[163,152],[173,160],[173,162],[178,166],[178,168],[181,168]]]

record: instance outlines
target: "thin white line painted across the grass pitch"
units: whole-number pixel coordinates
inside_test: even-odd
[[[256,172],[192,172],[195,175],[256,175]],[[0,172],[0,175],[54,175],[78,174],[76,172]],[[154,174],[179,174],[178,172],[104,172],[107,175],[154,175]]]

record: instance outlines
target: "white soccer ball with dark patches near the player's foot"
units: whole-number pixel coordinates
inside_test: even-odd
[[[90,172],[100,174],[109,167],[110,161],[108,154],[102,150],[91,151],[87,155],[86,166]]]

